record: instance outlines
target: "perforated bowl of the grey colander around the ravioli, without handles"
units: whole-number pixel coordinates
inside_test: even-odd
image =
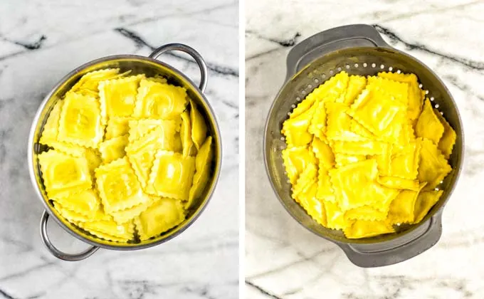
[[[433,106],[443,112],[443,116],[456,130],[457,140],[449,160],[452,171],[441,184],[443,195],[438,203],[433,206],[426,217],[413,226],[401,226],[397,233],[376,236],[372,238],[348,239],[342,231],[327,229],[317,224],[291,196],[291,184],[285,174],[282,150],[285,149],[284,136],[280,132],[283,122],[288,119],[288,112],[293,110],[306,95],[317,86],[324,83],[340,71],[346,71],[349,75],[377,75],[382,71],[400,70],[402,73],[414,73],[419,78],[423,90],[428,90],[427,98],[433,100]],[[346,48],[344,50],[329,53],[309,65],[306,65],[299,73],[293,75],[283,86],[276,96],[273,106],[270,108],[267,124],[265,127],[265,164],[273,185],[273,189],[285,209],[303,226],[315,234],[332,241],[343,243],[380,243],[400,237],[413,231],[426,223],[443,205],[451,195],[458,174],[461,172],[463,162],[463,130],[461,119],[458,114],[456,103],[451,94],[440,79],[415,58],[405,53],[388,48],[359,47]]]

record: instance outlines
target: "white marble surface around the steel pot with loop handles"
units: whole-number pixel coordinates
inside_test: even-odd
[[[172,42],[196,48],[210,66],[206,94],[224,154],[211,202],[161,246],[54,258],[39,237],[43,206],[26,162],[39,103],[78,65]],[[198,80],[194,63],[162,59]],[[0,1],[0,211],[0,298],[238,298],[238,2]],[[65,251],[86,247],[56,224],[49,230]]]

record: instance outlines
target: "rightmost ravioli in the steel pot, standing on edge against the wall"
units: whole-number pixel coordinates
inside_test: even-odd
[[[211,162],[214,158],[214,152],[211,146],[212,138],[211,136],[206,137],[203,145],[201,145],[199,153],[196,154],[195,158],[195,174],[193,178],[193,184],[190,188],[187,207],[191,206],[194,199],[201,196],[202,192],[206,187],[206,183],[209,182],[210,172],[211,172]]]

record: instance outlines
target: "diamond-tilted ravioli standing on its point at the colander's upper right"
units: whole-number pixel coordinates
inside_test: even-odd
[[[423,110],[415,126],[415,132],[418,137],[427,138],[438,145],[443,135],[443,125],[435,112],[430,100],[426,99],[423,104]]]

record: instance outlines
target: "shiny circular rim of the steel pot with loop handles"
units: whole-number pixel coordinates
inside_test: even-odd
[[[33,143],[34,140],[33,139],[34,139],[35,134],[36,134],[36,127],[37,127],[38,122],[41,118],[41,114],[42,114],[43,110],[45,110],[45,108],[46,108],[48,100],[51,99],[51,97],[56,93],[56,91],[59,88],[61,88],[61,86],[66,81],[68,81],[70,78],[77,75],[81,71],[85,70],[86,68],[89,68],[90,66],[96,65],[98,63],[103,63],[103,62],[106,62],[106,61],[115,61],[115,60],[137,60],[137,61],[147,61],[147,62],[150,62],[150,63],[155,63],[155,64],[158,64],[158,65],[161,65],[164,68],[168,68],[175,75],[177,75],[178,77],[181,77],[184,80],[186,80],[186,82],[189,85],[191,85],[192,88],[194,88],[194,91],[201,98],[201,100],[203,100],[204,103],[206,104],[206,107],[209,110],[210,116],[212,117],[211,121],[213,122],[213,125],[214,125],[214,129],[215,129],[214,133],[218,137],[218,138],[216,138],[216,140],[218,140],[218,142],[216,142],[216,147],[217,147],[217,151],[219,153],[219,159],[218,159],[218,162],[215,166],[216,172],[214,173],[214,181],[211,185],[211,189],[209,190],[209,192],[206,195],[206,198],[203,201],[201,201],[199,208],[191,216],[191,219],[189,219],[189,221],[186,221],[184,226],[179,227],[179,229],[176,232],[174,232],[174,234],[170,234],[166,238],[161,238],[157,241],[150,242],[150,243],[142,243],[142,244],[122,243],[122,244],[120,244],[120,246],[115,246],[115,245],[110,245],[110,244],[105,244],[105,243],[99,243],[97,241],[93,241],[93,240],[90,240],[88,238],[85,238],[84,236],[81,236],[80,234],[78,234],[75,231],[73,231],[72,229],[70,229],[66,224],[63,223],[63,221],[61,221],[61,219],[58,218],[58,216],[56,216],[55,213],[53,213],[52,207],[48,204],[48,199],[46,200],[44,198],[44,196],[41,192],[41,188],[38,186],[38,183],[36,181],[35,166],[33,164],[33,160],[35,159],[35,157],[34,157],[35,153],[33,151],[33,146],[34,146],[34,143]],[[169,65],[167,63],[164,63],[164,62],[159,61],[159,60],[154,59],[154,58],[150,58],[150,57],[147,57],[147,56],[139,56],[139,55],[135,55],[135,54],[122,54],[122,55],[105,56],[105,57],[102,57],[102,58],[97,58],[93,61],[89,61],[88,63],[84,63],[83,65],[78,66],[74,70],[71,70],[67,75],[65,75],[61,80],[59,80],[59,82],[43,98],[42,103],[38,106],[36,115],[33,117],[31,130],[28,134],[28,152],[27,152],[28,173],[29,173],[29,176],[31,178],[31,182],[32,182],[32,185],[35,189],[35,192],[38,196],[38,199],[41,200],[41,202],[44,206],[44,209],[56,221],[56,223],[59,226],[61,226],[70,235],[74,236],[75,238],[78,238],[80,241],[88,243],[91,246],[96,246],[96,247],[110,249],[110,250],[117,250],[117,251],[133,251],[133,250],[140,250],[140,249],[144,249],[144,248],[157,246],[161,243],[164,243],[166,241],[171,240],[172,238],[174,238],[176,236],[179,236],[179,234],[181,234],[186,229],[188,229],[189,226],[191,226],[191,224],[193,224],[196,221],[196,219],[199,218],[199,216],[201,215],[201,213],[204,211],[207,204],[209,203],[211,196],[213,196],[213,194],[214,194],[216,184],[218,184],[218,182],[219,182],[219,177],[220,177],[220,172],[221,172],[221,164],[222,164],[222,157],[223,157],[223,153],[222,153],[221,133],[220,133],[220,128],[219,128],[219,122],[216,118],[216,114],[215,114],[213,108],[211,107],[211,105],[209,103],[209,100],[206,98],[205,94],[200,90],[200,88],[197,85],[195,85],[194,82],[190,78],[188,78],[186,75],[184,75],[184,73],[181,73],[180,70],[177,70],[177,68],[174,68],[172,65]]]

